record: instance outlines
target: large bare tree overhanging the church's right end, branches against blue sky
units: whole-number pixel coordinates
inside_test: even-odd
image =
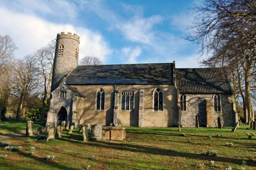
[[[255,0],[205,0],[191,10],[195,21],[192,30],[183,38],[201,44],[201,54],[210,57],[203,64],[223,66],[230,70],[239,68],[244,77],[245,118],[254,120],[251,98],[251,81],[256,76],[256,1]],[[242,78],[239,77],[240,81]],[[248,115],[248,118],[247,118]]]

